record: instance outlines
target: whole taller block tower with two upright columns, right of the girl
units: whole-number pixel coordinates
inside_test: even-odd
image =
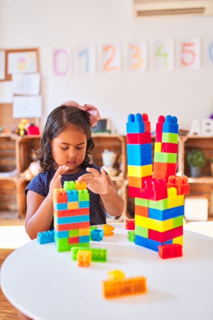
[[[142,174],[143,166],[152,167],[151,132],[147,122],[147,115],[131,114],[126,124],[129,196],[135,198],[135,244],[158,251],[158,245],[183,244],[184,195],[189,193],[189,184],[187,177],[175,176],[176,117],[158,118],[153,177],[150,171]],[[132,176],[140,180],[133,180]]]

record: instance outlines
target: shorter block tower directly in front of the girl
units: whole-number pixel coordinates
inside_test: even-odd
[[[54,189],[54,234],[58,252],[89,247],[89,192],[85,182],[65,181]]]

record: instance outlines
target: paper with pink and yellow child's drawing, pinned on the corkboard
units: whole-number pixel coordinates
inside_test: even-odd
[[[37,53],[35,51],[8,53],[7,73],[37,72]]]

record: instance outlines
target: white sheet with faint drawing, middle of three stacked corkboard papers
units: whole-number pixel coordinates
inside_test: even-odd
[[[12,75],[13,93],[39,95],[40,93],[40,73],[26,75]]]

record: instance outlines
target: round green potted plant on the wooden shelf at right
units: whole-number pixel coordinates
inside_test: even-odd
[[[202,150],[192,149],[187,155],[187,164],[190,166],[190,174],[192,177],[200,177],[202,167],[206,164],[206,157]]]

